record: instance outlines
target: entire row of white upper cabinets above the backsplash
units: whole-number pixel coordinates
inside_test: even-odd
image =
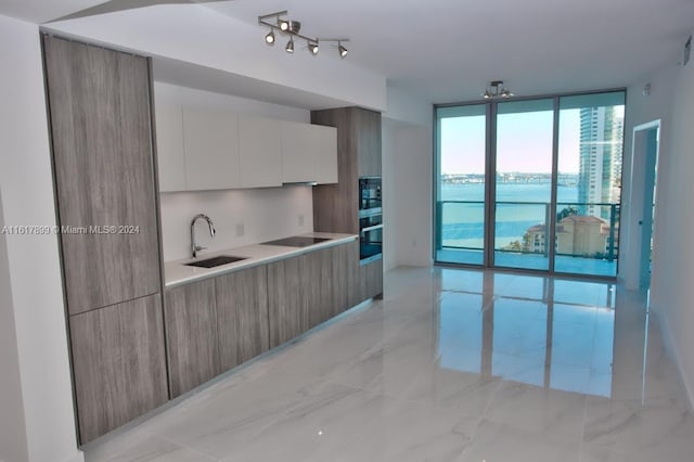
[[[157,102],[159,191],[337,182],[337,129]]]

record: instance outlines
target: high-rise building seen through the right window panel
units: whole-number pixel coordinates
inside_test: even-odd
[[[609,207],[594,204],[619,202],[624,106],[583,107],[580,124],[579,214],[609,219]]]

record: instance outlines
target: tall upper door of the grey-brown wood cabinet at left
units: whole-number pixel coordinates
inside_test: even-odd
[[[150,65],[43,36],[70,315],[160,292]]]

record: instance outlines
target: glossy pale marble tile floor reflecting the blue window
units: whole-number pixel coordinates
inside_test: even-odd
[[[86,460],[694,460],[694,416],[643,294],[448,268],[398,268],[384,292]]]

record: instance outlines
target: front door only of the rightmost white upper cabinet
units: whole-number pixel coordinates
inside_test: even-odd
[[[310,125],[282,123],[282,182],[317,181]]]

